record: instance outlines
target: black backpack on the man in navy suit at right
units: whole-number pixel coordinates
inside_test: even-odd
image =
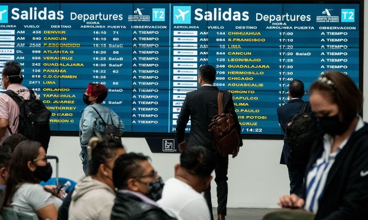
[[[297,157],[304,157],[309,154],[309,150],[316,136],[316,127],[311,115],[305,112],[309,102],[304,102],[300,113],[295,115],[291,121],[285,125],[285,135],[291,149],[291,153]]]

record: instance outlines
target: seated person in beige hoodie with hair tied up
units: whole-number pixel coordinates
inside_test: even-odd
[[[115,199],[112,173],[114,162],[125,154],[125,150],[119,141],[110,136],[102,139],[93,137],[88,145],[89,176],[74,188],[68,219],[108,220]],[[64,208],[62,211],[65,212]]]

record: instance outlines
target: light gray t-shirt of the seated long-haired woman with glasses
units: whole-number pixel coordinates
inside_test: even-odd
[[[54,203],[56,209],[59,209],[63,203],[61,199],[45,191],[43,186],[33,183],[23,183],[15,191],[12,201],[11,206],[15,210],[29,213],[35,213],[52,203]]]

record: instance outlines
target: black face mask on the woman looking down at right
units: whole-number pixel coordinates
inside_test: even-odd
[[[319,124],[324,132],[329,135],[342,135],[349,127],[350,123],[340,122],[339,115],[318,117]]]

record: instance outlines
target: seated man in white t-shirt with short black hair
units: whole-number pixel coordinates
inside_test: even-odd
[[[178,220],[210,220],[206,199],[201,192],[209,186],[216,157],[202,146],[187,147],[175,165],[175,178],[165,182],[157,202],[166,213]]]

